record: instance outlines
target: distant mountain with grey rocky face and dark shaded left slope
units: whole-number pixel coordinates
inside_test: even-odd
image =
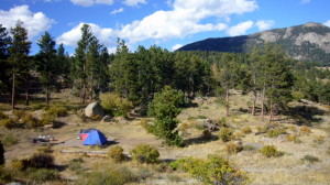
[[[251,35],[207,39],[180,47],[178,51],[249,52],[254,45],[275,43],[287,54],[300,61],[330,65],[330,28],[308,22],[286,29],[274,29]]]

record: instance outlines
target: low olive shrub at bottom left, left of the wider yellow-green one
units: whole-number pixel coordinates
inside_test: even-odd
[[[47,181],[56,181],[59,179],[59,173],[56,170],[50,170],[50,168],[29,168],[28,170],[29,177],[33,182],[40,182],[44,183]]]

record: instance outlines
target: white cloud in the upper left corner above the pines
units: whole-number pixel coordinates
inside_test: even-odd
[[[0,10],[1,24],[7,28],[14,28],[18,20],[24,22],[23,26],[28,30],[29,39],[51,29],[54,20],[47,18],[43,12],[32,12],[29,6],[20,6],[9,11]]]

